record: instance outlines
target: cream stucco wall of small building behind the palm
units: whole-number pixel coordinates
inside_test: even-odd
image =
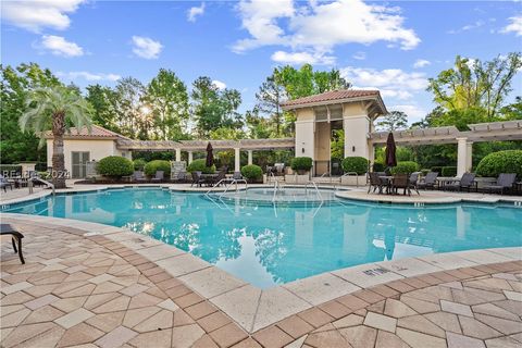
[[[122,156],[112,139],[65,139],[63,140],[63,153],[65,156],[65,170],[72,174],[72,152],[89,152],[89,159],[99,161],[108,156]],[[129,157],[126,152],[125,157]],[[52,139],[47,140],[47,165],[52,166]]]

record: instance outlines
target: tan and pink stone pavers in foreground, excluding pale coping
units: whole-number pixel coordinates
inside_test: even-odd
[[[3,219],[2,222],[9,222]],[[1,247],[2,347],[522,347],[522,261],[358,290],[252,335],[125,246],[16,222]]]

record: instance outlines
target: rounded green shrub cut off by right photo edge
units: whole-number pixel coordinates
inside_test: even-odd
[[[498,176],[500,173],[517,173],[522,177],[522,150],[506,150],[487,154],[476,166],[481,176]]]

